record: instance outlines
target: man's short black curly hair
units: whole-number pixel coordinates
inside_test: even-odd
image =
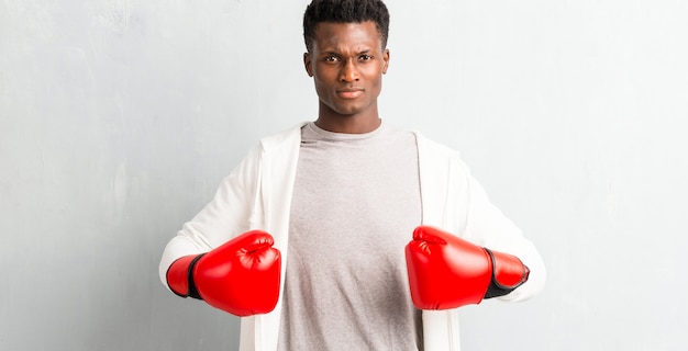
[[[381,0],[313,0],[303,13],[303,39],[310,52],[315,37],[318,23],[363,23],[375,22],[382,48],[387,47],[389,34],[389,11]]]

